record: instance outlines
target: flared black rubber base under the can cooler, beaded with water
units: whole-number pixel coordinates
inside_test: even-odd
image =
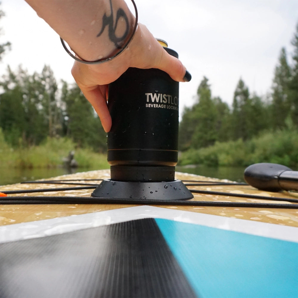
[[[103,180],[91,194],[97,198],[189,200],[193,198],[181,180],[171,182],[127,182]],[[145,202],[144,202],[145,204]]]

